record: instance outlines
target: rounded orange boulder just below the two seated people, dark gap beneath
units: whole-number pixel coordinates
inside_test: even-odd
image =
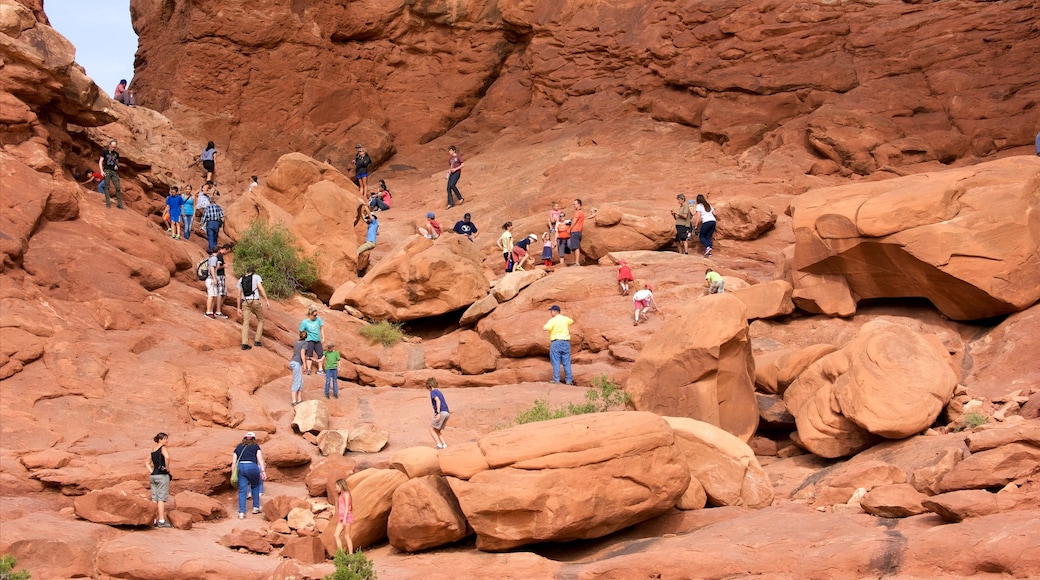
[[[480,253],[463,236],[412,236],[392,249],[344,298],[376,320],[446,314],[488,294]]]

